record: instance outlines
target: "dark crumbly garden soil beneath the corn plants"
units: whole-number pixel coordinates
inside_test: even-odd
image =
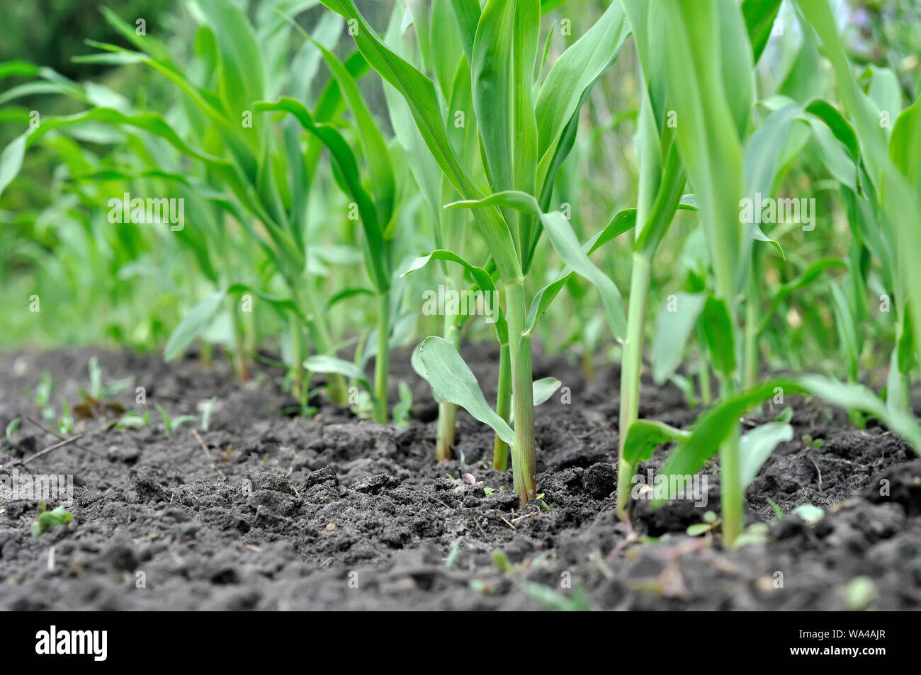
[[[766,534],[726,550],[718,530],[685,533],[719,512],[716,466],[705,507],[640,502],[633,536],[615,517],[613,367],[596,367],[587,383],[576,364],[535,357],[534,377],[560,378],[572,398],[557,393],[535,415],[543,496],[522,507],[511,474],[489,468],[491,430],[466,413],[457,459],[434,462],[437,408],[406,353],[392,358],[391,378],[393,400],[400,380],[414,392],[405,430],[322,401],[313,417],[292,416],[274,367],[239,383],[223,361],[205,370],[193,356],[163,364],[76,349],[0,356],[0,424],[41,421],[42,371],[57,413],[80,402],[92,355],[103,384],[133,378],[114,398],[149,412],[151,425],[104,429],[110,406],[76,421],[85,436],[23,465],[59,440],[23,419],[0,475],[73,474],[74,519],[33,538],[38,503],[0,502],[0,609],[903,610],[921,601],[921,460],[872,422],[854,428],[817,402],[787,402],[793,440],[748,491],[749,523]],[[493,350],[464,355],[494,396]],[[200,417],[212,397],[207,431],[196,421],[165,433],[155,404],[173,419]],[[672,387],[644,382],[642,401],[640,416],[671,425],[699,412]],[[743,425],[777,413],[765,407]],[[790,515],[803,504],[824,517],[810,525]]]

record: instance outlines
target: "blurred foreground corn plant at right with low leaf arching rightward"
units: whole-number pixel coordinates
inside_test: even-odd
[[[724,541],[731,544],[744,526],[745,487],[761,465],[753,459],[766,457],[777,443],[790,437],[791,431],[783,423],[765,425],[743,441],[739,418],[774,395],[777,388],[786,394],[819,396],[849,410],[872,414],[918,451],[921,435],[910,415],[887,408],[859,385],[801,376],[775,378],[752,389],[739,390],[737,355],[742,353],[742,343],[737,328],[737,297],[751,279],[743,263],[750,262],[747,251],[753,239],[752,224],[742,227],[738,215],[746,175],[740,139],[748,126],[751,105],[751,90],[742,83],[751,76],[747,72],[752,65],[751,47],[744,39],[744,30],[740,30],[744,26],[740,9],[731,0],[657,3],[649,6],[648,18],[671,46],[663,59],[662,76],[678,115],[677,145],[694,187],[709,244],[716,290],[705,298],[701,312],[705,343],[720,383],[720,400],[690,432],[656,422],[635,422],[624,442],[624,460],[635,465],[648,459],[652,448],[660,443],[675,441],[677,448],[662,472],[687,475],[699,471],[719,448],[722,532]],[[827,26],[834,26],[834,21]],[[773,176],[774,171],[767,175]],[[621,495],[619,500],[623,499]]]

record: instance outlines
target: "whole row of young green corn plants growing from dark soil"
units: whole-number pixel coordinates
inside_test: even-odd
[[[188,35],[169,41],[107,10],[130,46],[94,42],[78,57],[143,69],[168,92],[167,107],[0,64],[0,77],[29,80],[0,98],[5,124],[28,123],[15,102],[35,94],[83,107],[6,146],[0,195],[35,192],[28,171],[17,176],[27,150],[41,148],[62,161],[42,217],[65,213],[83,232],[67,244],[125,280],[173,265],[146,291],[177,305],[195,299],[169,333],[167,358],[196,340],[203,355],[223,342],[246,377],[258,346],[274,340],[305,411],[309,376],[320,373],[330,401],[356,404],[350,385],[362,387],[367,414],[386,423],[391,353],[416,343],[413,366],[438,402],[435,459],[452,457],[465,409],[495,432],[492,465],[506,471],[510,460],[524,504],[538,493],[534,408],[561,384],[534,380],[532,346],[541,336],[549,349],[569,332],[587,378],[600,352],[620,361],[620,517],[630,517],[638,462],[670,442],[666,473],[694,473],[718,454],[729,542],[744,526],[747,484],[792,436],[782,421],[742,435],[740,416],[778,389],[840,405],[857,424],[874,417],[921,448],[909,395],[921,334],[917,92],[891,68],[856,71],[827,0],[616,0],[599,12],[546,0],[392,11],[305,0],[249,13],[199,0],[188,11]],[[592,20],[573,34],[576,14]],[[767,78],[759,62],[778,20],[802,37],[786,76]],[[627,95],[622,79],[633,83]],[[614,177],[628,186],[617,198],[597,188]],[[845,248],[822,233],[832,218],[812,233],[814,209],[809,227],[763,222],[763,195],[816,183],[824,187],[811,201],[845,216]],[[122,192],[179,194],[188,225],[106,222]],[[360,279],[348,273],[356,265]],[[93,284],[87,267],[72,274]],[[419,317],[414,293],[433,283],[501,297],[493,326],[460,312]],[[124,285],[112,293],[120,306],[141,297]],[[882,320],[872,317],[878,295],[892,304]],[[790,330],[798,311],[809,337]],[[495,402],[461,357],[465,331],[495,336]],[[881,398],[861,384],[880,366],[868,357],[880,344],[890,354]],[[834,358],[810,367],[807,348],[840,351],[845,371]],[[644,369],[689,402],[699,395],[705,410],[690,429],[641,418]],[[802,369],[847,381],[764,378]]]

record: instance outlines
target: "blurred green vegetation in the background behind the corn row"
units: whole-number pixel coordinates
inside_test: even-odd
[[[366,0],[357,4],[372,25],[379,30],[386,27],[391,2]],[[551,59],[594,22],[607,4],[600,0],[570,0],[556,10],[554,17],[545,17],[550,20],[546,20],[547,25],[542,29],[544,34],[558,17],[571,17],[573,24],[571,37],[560,35],[559,31],[554,33]],[[257,25],[260,13],[271,11],[271,7],[309,3],[254,0],[239,5],[246,8],[251,21]],[[137,64],[118,66],[74,61],[75,56],[96,51],[87,46],[87,40],[129,46],[110,23],[103,20],[102,6],[108,6],[132,25],[137,18],[144,18],[148,35],[156,35],[176,52],[191,51],[195,29],[190,20],[190,6],[193,11],[193,5],[184,0],[6,0],[0,62],[22,60],[49,66],[79,83],[99,82],[132,101],[138,110],[166,114],[175,104],[174,87],[149,68]],[[914,100],[921,89],[918,66],[921,4],[916,0],[837,0],[835,6],[851,57],[859,64],[892,68],[904,87],[904,99]],[[321,6],[311,6],[298,15],[297,22],[310,31],[324,12]],[[786,3],[781,17],[794,39],[772,39],[759,65],[759,76],[764,82],[775,85],[799,52],[799,41],[795,39],[799,26]],[[352,48],[351,41],[346,39],[339,42],[336,52],[343,57]],[[296,46],[292,45],[291,54],[296,51]],[[561,199],[573,204],[576,224],[603,224],[616,210],[633,205],[636,157],[632,134],[638,107],[636,67],[633,50],[624,49],[584,109],[582,124],[591,131],[579,134],[578,146],[557,180]],[[0,80],[0,146],[6,146],[23,132],[24,114],[28,111],[40,110],[43,116],[48,116],[86,108],[74,99],[40,92],[17,97],[15,105],[6,104],[6,92],[28,79],[7,77]],[[321,69],[313,90],[321,90],[328,81],[329,76]],[[390,136],[379,78],[365,77],[360,84],[375,119],[385,129],[385,135]],[[81,202],[79,191],[67,192],[62,188],[67,180],[62,157],[73,151],[75,140],[83,151],[101,156],[111,139],[92,134],[74,139],[61,134],[53,143],[42,143],[30,149],[22,174],[14,183],[16,189],[9,189],[0,197],[0,313],[6,317],[5,329],[0,331],[0,347],[60,343],[120,343],[142,350],[162,347],[188,308],[189,294],[201,295],[198,289],[190,290],[186,278],[187,266],[191,264],[190,253],[170,249],[162,235],[142,233],[135,236],[126,234],[124,228],[100,229],[94,225],[94,218],[98,220],[100,216],[99,213],[89,215],[93,212],[92,204]],[[79,160],[75,158],[74,161]],[[794,184],[799,181],[802,188],[818,200],[839,199],[834,191],[823,187],[821,181],[813,182],[814,173],[806,163],[791,171],[787,180]],[[810,247],[826,251],[825,254],[834,250],[845,257],[849,235],[844,210],[839,205],[821,209],[821,212],[830,221],[826,223],[829,227],[817,230],[825,232],[824,239],[820,241],[814,237],[803,241],[799,249],[792,251],[794,261],[798,256],[808,259]],[[104,214],[101,217],[104,219]],[[349,227],[348,223],[343,224],[342,236],[322,236],[331,244],[343,240],[355,244],[355,239],[350,241],[349,237],[356,237],[356,233],[350,234]],[[577,227],[585,228],[580,232],[585,237],[597,229]],[[683,276],[692,264],[689,251],[699,244],[694,242],[694,229],[693,216],[679,215],[676,227],[669,234],[669,242],[662,247],[661,264],[654,272],[652,286],[662,289],[663,295],[682,285]],[[800,235],[793,233],[791,236]],[[417,251],[418,254],[423,252]],[[616,261],[617,256],[625,254],[628,255],[621,246],[612,248],[607,255]],[[257,266],[264,267],[265,263],[257,261]],[[548,270],[554,269],[553,261],[545,264]],[[628,277],[616,264],[610,266],[612,276],[625,289]],[[765,275],[769,283],[777,283],[787,273],[772,263],[767,265]],[[47,294],[43,309],[53,310],[29,316],[22,308],[36,288]],[[335,290],[333,287],[329,293]],[[572,290],[576,295],[582,292],[578,288]],[[43,303],[45,297],[42,296]],[[650,313],[655,312],[661,300],[662,297],[650,297],[654,305]],[[595,343],[600,336],[607,335],[600,316],[580,317],[579,307],[576,303],[575,314],[565,303],[552,308],[560,320],[546,321],[545,325],[557,331],[562,328],[568,334],[557,335],[558,339],[554,340],[547,340],[549,336],[545,335],[544,343],[549,349],[562,349],[577,340],[588,341],[582,345],[588,349],[597,346]],[[831,327],[834,318],[827,306],[803,298],[797,307],[788,309],[786,319],[791,330],[783,338],[788,341],[786,346],[792,346],[803,358],[833,359],[834,329],[819,334],[798,332],[799,326],[815,325],[816,321]],[[346,327],[356,319],[350,311],[341,306],[337,308],[342,316],[333,319],[337,326],[334,330],[340,335],[347,332]],[[803,314],[814,316],[804,317]],[[574,326],[574,316],[578,326]],[[879,330],[885,331],[885,327]],[[775,349],[784,348],[784,345],[775,345]]]

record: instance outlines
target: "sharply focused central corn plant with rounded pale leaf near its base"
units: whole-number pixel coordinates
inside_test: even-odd
[[[571,146],[567,130],[568,134],[575,133],[580,103],[624,42],[623,11],[612,5],[535,87],[540,3],[491,0],[482,11],[476,0],[452,3],[470,67],[484,168],[492,192],[499,195],[495,197],[484,195],[470,170],[461,164],[446,131],[432,80],[381,41],[352,0],[324,0],[323,4],[342,15],[352,27],[350,32],[367,63],[406,101],[429,152],[461,196],[461,205],[473,207],[473,217],[505,295],[513,402],[509,416],[514,418],[514,432],[485,403],[475,378],[472,374],[467,377],[469,368],[451,343],[442,338],[426,339],[419,349],[418,361],[439,398],[463,406],[491,425],[512,448],[515,489],[525,503],[537,495],[530,337],[546,304],[542,304],[541,297],[535,297],[529,312],[524,284],[542,229],[551,233],[554,249],[564,262],[576,270],[590,268],[589,280],[602,287],[602,298],[612,319],[625,323],[616,286],[589,262],[562,215],[544,213],[553,195],[559,162]],[[547,295],[555,295],[558,290],[559,287]],[[502,408],[501,401],[497,407]]]

